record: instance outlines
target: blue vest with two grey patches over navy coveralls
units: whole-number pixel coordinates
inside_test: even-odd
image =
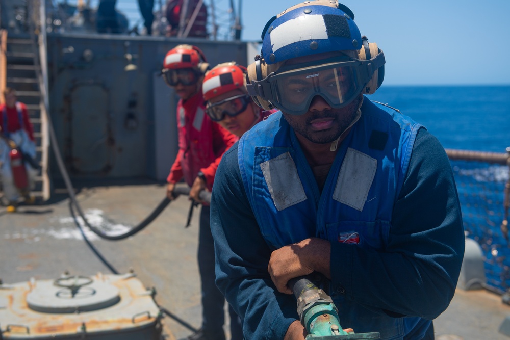
[[[322,193],[281,112],[240,139],[238,163],[244,188],[270,247],[317,237],[385,251],[394,202],[423,126],[366,97],[361,111],[339,145]],[[369,310],[332,287],[326,293],[339,306],[341,325],[356,333],[380,332],[383,339],[401,339],[411,331],[424,334],[431,322]]]

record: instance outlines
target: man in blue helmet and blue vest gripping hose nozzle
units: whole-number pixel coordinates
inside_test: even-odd
[[[212,190],[216,283],[246,339],[304,339],[291,278],[315,273],[340,323],[433,339],[464,254],[439,141],[370,101],[384,55],[354,15],[304,2],[266,25],[248,91],[266,110],[222,158]]]

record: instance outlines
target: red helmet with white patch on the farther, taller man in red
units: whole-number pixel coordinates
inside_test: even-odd
[[[170,49],[163,61],[163,69],[193,68],[204,74],[209,68],[206,56],[196,46],[178,45]]]

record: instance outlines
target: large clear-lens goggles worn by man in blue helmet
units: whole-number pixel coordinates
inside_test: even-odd
[[[373,64],[335,57],[321,60],[316,65],[286,65],[260,82],[252,81],[252,89],[256,95],[291,115],[307,113],[317,95],[331,108],[339,109],[363,91],[377,69]]]

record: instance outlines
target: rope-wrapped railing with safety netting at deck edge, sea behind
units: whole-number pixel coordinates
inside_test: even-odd
[[[453,169],[466,236],[482,249],[486,288],[510,289],[510,148],[507,152],[446,149]]]

